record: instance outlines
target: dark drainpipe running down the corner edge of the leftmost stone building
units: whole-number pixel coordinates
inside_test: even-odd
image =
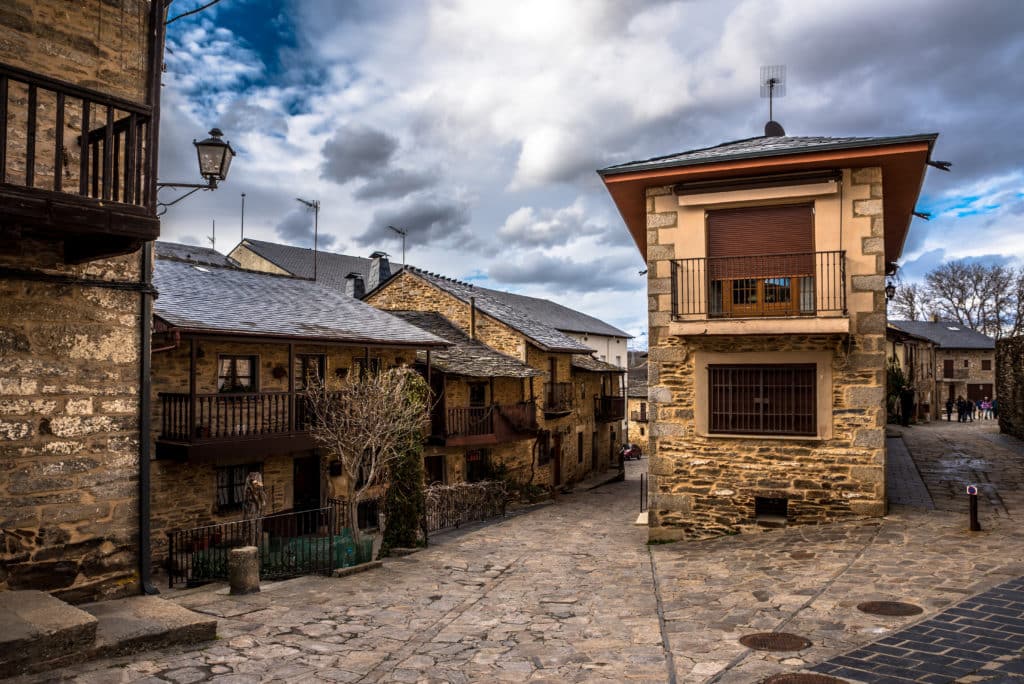
[[[150,80],[146,84],[147,104],[153,108],[150,120],[146,142],[148,143],[148,167],[151,173],[146,178],[146,209],[156,215],[157,212],[157,169],[160,147],[160,77],[164,65],[164,38],[166,32],[167,5],[163,0],[150,3]],[[142,245],[141,274],[142,284],[153,287],[153,243]],[[139,397],[138,397],[138,574],[139,587],[143,594],[159,594],[151,580],[153,566],[153,551],[150,546],[150,440],[152,438],[153,412],[151,408],[153,390],[151,379],[151,355],[153,353],[153,298],[150,293],[139,295],[139,315],[141,316],[140,345],[142,362],[139,365]]]

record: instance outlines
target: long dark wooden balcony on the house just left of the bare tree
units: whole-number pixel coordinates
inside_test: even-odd
[[[158,459],[259,457],[315,447],[312,419],[299,393],[161,393],[159,398]]]

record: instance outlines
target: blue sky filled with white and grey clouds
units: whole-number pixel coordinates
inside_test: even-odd
[[[204,0],[175,0],[174,17]],[[596,315],[646,346],[646,277],[596,169],[761,135],[938,132],[900,259],[1024,265],[1019,0],[221,0],[168,26],[160,180],[238,156],[162,239],[376,250]],[[171,201],[175,190],[164,189]]]

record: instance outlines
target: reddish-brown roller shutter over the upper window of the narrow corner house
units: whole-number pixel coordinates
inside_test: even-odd
[[[718,209],[707,224],[712,280],[814,274],[814,205]]]

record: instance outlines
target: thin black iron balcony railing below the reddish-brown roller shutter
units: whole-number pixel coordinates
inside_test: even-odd
[[[675,319],[845,315],[846,252],[672,261]]]

